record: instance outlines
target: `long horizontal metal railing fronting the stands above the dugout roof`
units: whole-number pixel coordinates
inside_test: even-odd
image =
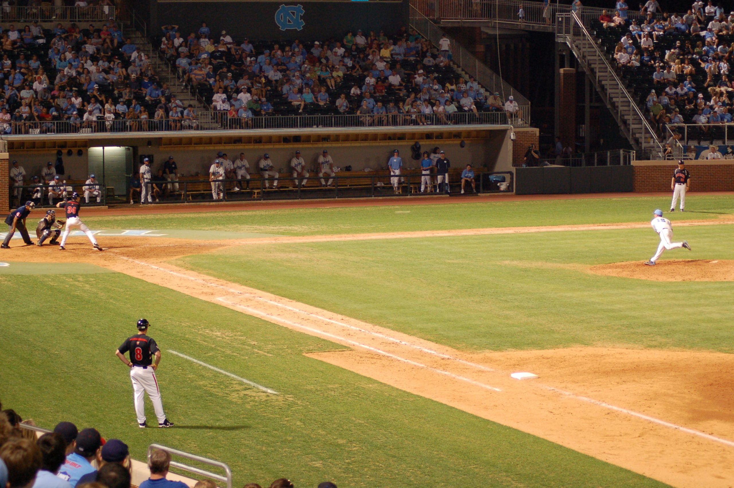
[[[291,115],[229,117],[228,112],[200,112],[195,119],[115,119],[50,120],[39,122],[0,123],[0,134],[37,136],[39,134],[117,134],[161,131],[244,131],[275,128],[366,128],[407,127],[411,125],[526,125],[529,106],[520,107],[516,114],[507,112],[455,112],[454,114],[384,114],[384,115]]]

